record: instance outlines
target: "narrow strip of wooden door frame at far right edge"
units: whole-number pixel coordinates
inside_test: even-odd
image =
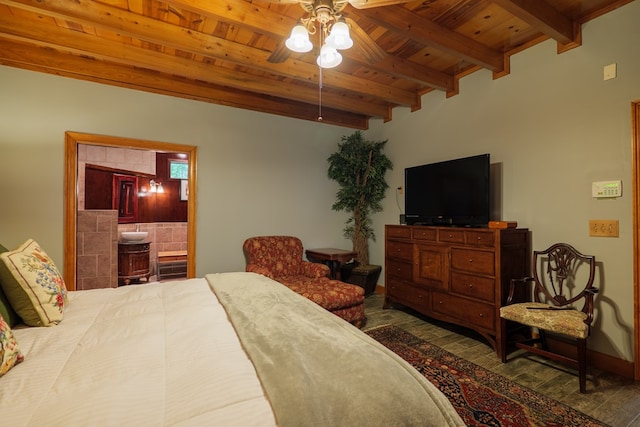
[[[640,101],[631,103],[631,161],[633,176],[633,377],[640,380]]]

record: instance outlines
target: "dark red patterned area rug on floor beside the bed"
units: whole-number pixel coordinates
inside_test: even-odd
[[[396,326],[366,333],[435,384],[468,426],[605,426]]]

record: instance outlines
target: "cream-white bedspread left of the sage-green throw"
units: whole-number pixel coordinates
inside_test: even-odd
[[[71,292],[61,324],[14,332],[1,425],[275,425],[205,279]]]

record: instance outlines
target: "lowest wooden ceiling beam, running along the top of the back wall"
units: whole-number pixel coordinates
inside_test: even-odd
[[[0,64],[63,77],[163,94],[279,116],[318,121],[318,106],[138,69],[104,61],[60,55],[49,48],[14,41],[0,43]],[[322,123],[367,129],[368,116],[325,107]]]

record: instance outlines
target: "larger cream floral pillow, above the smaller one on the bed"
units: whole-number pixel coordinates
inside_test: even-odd
[[[0,285],[27,325],[51,326],[62,321],[67,288],[51,258],[34,240],[0,254]]]

